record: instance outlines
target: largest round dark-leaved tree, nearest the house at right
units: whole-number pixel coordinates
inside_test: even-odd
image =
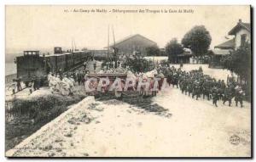
[[[185,36],[183,36],[183,47],[188,47],[195,56],[202,56],[207,53],[212,42],[212,36],[204,25],[196,25]]]

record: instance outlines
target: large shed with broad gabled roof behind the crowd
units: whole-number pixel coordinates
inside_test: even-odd
[[[120,54],[133,54],[133,53],[141,53],[143,56],[146,55],[146,48],[157,46],[157,43],[151,41],[145,36],[140,34],[132,35],[125,37],[124,39],[115,42],[114,44],[110,45],[109,47],[118,48],[118,52]]]

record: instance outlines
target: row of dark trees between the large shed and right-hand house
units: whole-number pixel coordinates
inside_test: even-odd
[[[166,56],[169,60],[178,54],[183,53],[183,48],[189,48],[194,56],[201,57],[205,55],[212,42],[212,36],[209,31],[207,31],[204,25],[196,25],[190,31],[188,31],[182,39],[182,42],[177,42],[177,38],[173,38],[170,42],[166,44]],[[159,56],[160,48],[157,46],[148,47],[148,56]]]

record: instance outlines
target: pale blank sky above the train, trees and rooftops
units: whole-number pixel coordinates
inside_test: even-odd
[[[130,12],[114,12],[118,9]],[[183,12],[178,13],[179,10]],[[250,22],[250,7],[6,6],[5,16],[6,53],[34,49],[52,51],[56,46],[67,49],[72,47],[72,42],[78,48],[102,49],[108,47],[108,26],[110,44],[113,33],[115,41],[141,34],[159,47],[165,47],[174,37],[180,42],[193,26],[205,25],[212,36],[212,48],[227,41],[225,36],[239,19]]]

